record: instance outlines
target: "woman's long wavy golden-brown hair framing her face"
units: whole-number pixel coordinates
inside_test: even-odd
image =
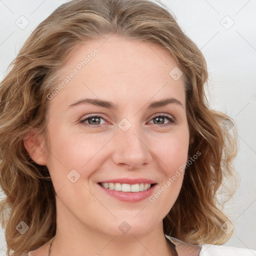
[[[112,34],[157,43],[176,59],[185,77],[189,155],[179,195],[163,219],[164,233],[191,244],[223,244],[232,235],[220,226],[231,221],[223,205],[237,189],[233,168],[236,127],[226,114],[210,109],[208,80],[199,48],[163,5],[148,0],[73,0],[55,9],[28,37],[0,83],[0,202],[7,253],[20,255],[38,248],[56,230],[55,190],[48,169],[36,164],[23,139],[36,127],[47,136],[47,94],[56,85],[64,58],[87,39]],[[221,192],[219,192],[221,191]],[[225,200],[219,200],[224,194]],[[16,226],[29,229],[21,234]]]

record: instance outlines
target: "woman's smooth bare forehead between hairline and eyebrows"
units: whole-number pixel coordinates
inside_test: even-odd
[[[51,103],[72,103],[81,96],[119,103],[172,96],[185,105],[183,76],[171,76],[177,68],[174,57],[156,43],[118,36],[87,40],[65,62],[58,82],[66,83]]]

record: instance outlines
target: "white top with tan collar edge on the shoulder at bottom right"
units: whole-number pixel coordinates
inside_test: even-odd
[[[193,245],[165,234],[175,244],[178,256],[256,256],[256,250],[226,245],[203,244]]]

